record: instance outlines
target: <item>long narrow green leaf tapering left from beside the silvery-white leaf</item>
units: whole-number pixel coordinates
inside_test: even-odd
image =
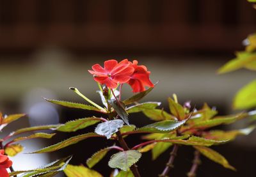
[[[52,151],[57,151],[62,148],[65,148],[67,146],[70,146],[72,144],[76,144],[77,142],[83,141],[84,139],[87,139],[89,137],[101,137],[101,136],[97,135],[95,133],[76,135],[76,136],[70,137],[64,141],[58,142],[57,144],[53,144],[51,146],[42,148],[41,150],[37,150],[37,151],[31,152],[31,153],[48,153],[48,152],[52,152]]]

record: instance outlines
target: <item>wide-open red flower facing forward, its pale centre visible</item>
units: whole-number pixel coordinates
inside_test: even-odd
[[[99,64],[92,66],[93,70],[88,70],[94,76],[94,80],[100,84],[106,84],[108,88],[116,88],[117,84],[128,82],[134,72],[131,63],[124,59],[118,63],[115,59],[104,62],[104,68]]]

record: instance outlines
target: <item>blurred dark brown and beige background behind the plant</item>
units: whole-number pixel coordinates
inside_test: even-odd
[[[166,98],[176,93],[180,103],[191,100],[200,108],[207,102],[220,114],[230,114],[234,112],[232,96],[255,73],[239,70],[217,75],[216,70],[234,58],[234,51],[243,50],[242,41],[255,27],[256,10],[246,0],[0,0],[0,110],[28,113],[28,118],[13,123],[1,137],[29,125],[94,115],[49,104],[42,97],[83,102],[68,89],[74,86],[100,103],[97,84],[87,70],[106,59],[138,59],[148,67],[152,82],[159,83],[145,100],[162,102],[167,109]],[[124,89],[124,98],[132,95],[131,88]],[[142,114],[130,119],[138,127],[150,123]],[[239,122],[221,128],[244,126]],[[28,152],[88,131],[93,128],[22,144]],[[198,176],[256,176],[255,138],[252,134],[214,148],[237,168],[236,173],[202,158]],[[127,141],[134,145],[135,139]],[[20,154],[12,159],[15,169],[31,169],[72,151],[71,163],[85,164],[92,153],[108,144],[113,142],[89,139],[57,153]],[[143,155],[138,162],[142,176],[157,176],[168,154],[156,162],[150,162],[150,153]],[[108,157],[95,166],[104,176],[111,172]],[[26,164],[24,159],[29,159]],[[192,159],[191,148],[180,148],[172,174],[185,176]]]

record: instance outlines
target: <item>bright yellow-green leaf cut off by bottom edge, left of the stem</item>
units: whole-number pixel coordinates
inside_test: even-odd
[[[88,169],[84,167],[84,165],[67,165],[67,167],[64,169],[64,173],[68,177],[103,177],[97,171]]]

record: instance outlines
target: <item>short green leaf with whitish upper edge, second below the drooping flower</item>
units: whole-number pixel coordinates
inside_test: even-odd
[[[149,110],[155,109],[159,105],[161,105],[161,102],[145,102],[142,104],[132,105],[131,107],[128,107],[126,111],[128,113],[147,111],[148,109]]]

